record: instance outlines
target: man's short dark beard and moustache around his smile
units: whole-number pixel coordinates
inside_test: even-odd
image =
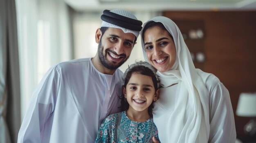
[[[101,62],[101,64],[103,66],[105,66],[106,68],[110,69],[110,70],[116,70],[117,68],[119,68],[122,64],[124,64],[124,62],[127,61],[127,59],[130,57],[130,55],[126,58],[126,55],[125,54],[121,54],[120,56],[123,57],[123,60],[115,65],[115,64],[111,64],[108,62],[107,60],[107,54],[108,54],[108,51],[110,51],[110,53],[114,53],[115,55],[117,55],[117,53],[115,51],[112,51],[110,49],[106,49],[105,51],[105,55],[103,55],[103,46],[101,45],[101,40],[99,41],[99,45],[98,45],[98,55],[99,55],[99,60]],[[115,61],[112,61],[113,63],[116,63]]]

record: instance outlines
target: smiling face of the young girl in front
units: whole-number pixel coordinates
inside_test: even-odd
[[[152,77],[136,72],[132,73],[126,87],[123,87],[123,93],[129,103],[129,112],[145,114],[148,114],[148,107],[158,97]]]

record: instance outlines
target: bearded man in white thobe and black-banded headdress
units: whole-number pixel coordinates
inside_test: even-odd
[[[98,52],[52,67],[36,88],[18,143],[94,143],[99,126],[120,111],[117,69],[132,51],[142,22],[125,10],[103,11]]]

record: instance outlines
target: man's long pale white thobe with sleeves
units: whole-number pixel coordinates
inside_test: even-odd
[[[103,119],[120,111],[122,75],[100,73],[91,58],[50,68],[31,97],[18,143],[94,143]]]

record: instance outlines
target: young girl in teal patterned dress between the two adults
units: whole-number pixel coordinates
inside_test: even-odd
[[[103,121],[95,143],[152,143],[153,137],[159,141],[152,115],[159,95],[156,70],[147,62],[136,62],[126,70],[123,81],[124,111]]]

